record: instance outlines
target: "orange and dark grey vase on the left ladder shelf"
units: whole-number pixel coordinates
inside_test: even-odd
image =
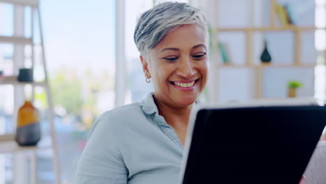
[[[40,116],[30,101],[18,110],[15,141],[20,146],[35,146],[40,141]]]

